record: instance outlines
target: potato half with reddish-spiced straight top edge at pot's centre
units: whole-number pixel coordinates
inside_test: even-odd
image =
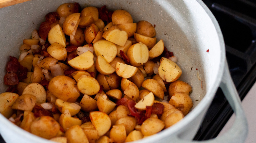
[[[134,76],[137,70],[138,68],[131,65],[127,65],[119,62],[117,62],[116,64],[116,73],[118,76],[121,76],[123,78],[130,78]]]

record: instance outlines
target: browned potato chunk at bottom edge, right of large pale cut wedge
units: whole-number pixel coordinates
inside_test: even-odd
[[[124,142],[126,139],[125,126],[123,124],[113,125],[109,136],[114,140],[114,142]]]

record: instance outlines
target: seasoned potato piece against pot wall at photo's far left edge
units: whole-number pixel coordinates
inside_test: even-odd
[[[4,92],[0,94],[0,113],[6,118],[10,118],[14,113],[11,106],[19,97],[16,93]]]

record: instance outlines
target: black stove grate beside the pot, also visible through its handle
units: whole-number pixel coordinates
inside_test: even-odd
[[[229,70],[241,100],[256,81],[256,2],[203,0],[223,33]],[[233,110],[219,88],[194,140],[216,137]]]

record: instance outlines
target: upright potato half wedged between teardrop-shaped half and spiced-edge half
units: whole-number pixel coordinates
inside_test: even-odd
[[[95,63],[96,69],[101,74],[111,74],[115,72],[115,68],[112,67],[102,56],[98,56]]]

